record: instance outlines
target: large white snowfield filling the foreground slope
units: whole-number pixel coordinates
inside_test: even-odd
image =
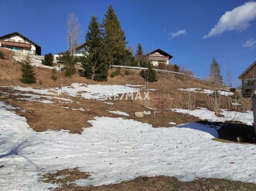
[[[160,175],[182,181],[211,177],[256,183],[256,145],[214,141],[216,128],[204,124],[152,128],[134,120],[96,117],[81,134],[35,132],[25,117],[2,105],[0,121],[1,191],[46,191],[47,187],[10,188],[6,183],[13,178],[38,183],[39,173],[74,167],[91,172],[90,179],[75,181],[83,186]]]

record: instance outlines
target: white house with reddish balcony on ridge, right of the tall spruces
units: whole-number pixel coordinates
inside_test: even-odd
[[[145,56],[151,61],[153,66],[158,66],[160,63],[164,63],[166,65],[169,64],[169,60],[173,58],[172,55],[166,53],[165,51],[158,48],[150,53],[145,54]]]

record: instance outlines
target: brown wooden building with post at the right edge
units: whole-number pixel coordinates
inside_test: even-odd
[[[252,99],[254,134],[256,135],[256,61],[239,76],[239,79],[242,80],[243,97]]]

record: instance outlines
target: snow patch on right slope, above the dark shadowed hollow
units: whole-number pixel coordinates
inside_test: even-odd
[[[208,120],[212,122],[238,121],[238,122],[243,122],[247,125],[252,125],[252,122],[253,122],[252,111],[241,113],[241,112],[227,111],[227,110],[221,109],[220,115],[223,115],[223,117],[218,117],[215,115],[215,112],[209,111],[204,107],[199,107],[198,109],[195,109],[195,110],[189,110],[189,109],[169,109],[169,110],[182,113],[182,114],[193,115],[202,120]]]

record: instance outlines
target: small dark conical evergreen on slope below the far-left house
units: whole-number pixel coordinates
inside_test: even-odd
[[[31,58],[29,55],[25,57],[25,60],[23,60],[23,64],[21,67],[22,71],[22,77],[20,78],[20,81],[25,84],[35,84],[36,79],[33,72],[33,66],[31,65]]]

